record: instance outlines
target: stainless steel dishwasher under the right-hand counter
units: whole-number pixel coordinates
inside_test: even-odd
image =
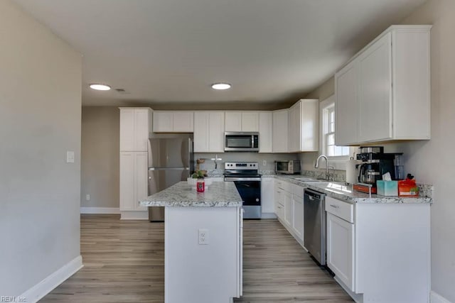
[[[326,265],[326,194],[304,191],[304,246],[320,265]]]

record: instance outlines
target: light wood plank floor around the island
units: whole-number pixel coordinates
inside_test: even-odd
[[[80,225],[84,268],[40,302],[164,302],[164,224],[82,215]],[[278,221],[244,225],[235,302],[353,302]]]

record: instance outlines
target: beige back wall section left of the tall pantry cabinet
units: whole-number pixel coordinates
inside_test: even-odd
[[[119,121],[117,107],[82,107],[80,206],[119,207]]]

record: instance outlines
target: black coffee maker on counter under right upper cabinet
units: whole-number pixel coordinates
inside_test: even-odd
[[[360,192],[377,192],[376,182],[382,180],[382,175],[389,172],[392,180],[398,180],[400,176],[395,173],[397,167],[396,159],[401,158],[402,153],[384,153],[382,146],[360,146],[360,153],[357,160],[362,163],[358,165],[358,183],[354,189]]]

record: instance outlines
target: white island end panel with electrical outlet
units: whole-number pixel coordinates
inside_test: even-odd
[[[232,302],[242,295],[241,211],[240,207],[166,207],[166,303]]]

